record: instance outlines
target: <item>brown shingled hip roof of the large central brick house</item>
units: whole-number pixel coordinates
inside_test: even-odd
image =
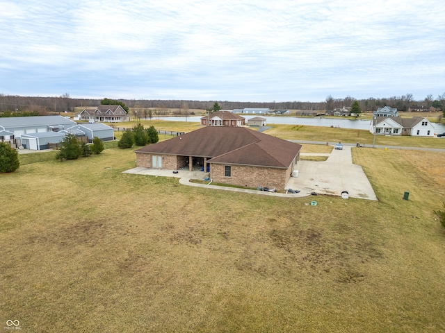
[[[211,157],[207,162],[288,168],[300,148],[300,144],[248,128],[206,126],[136,153]]]

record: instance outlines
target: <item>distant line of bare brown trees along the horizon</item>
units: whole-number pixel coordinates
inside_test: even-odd
[[[104,97],[106,98],[106,97]],[[233,110],[243,108],[269,108],[270,110],[334,110],[335,108],[350,107],[353,101],[358,101],[362,112],[371,112],[385,105],[397,108],[399,111],[429,111],[435,108],[442,110],[445,104],[445,93],[436,99],[432,95],[425,99],[416,101],[412,94],[403,96],[393,96],[382,99],[355,99],[347,96],[343,99],[334,99],[327,96],[321,102],[234,102],[234,101],[186,101],[186,100],[159,100],[159,99],[117,99],[129,108],[158,108],[158,109],[183,109],[183,110],[207,110],[213,103],[218,102],[222,110]],[[33,97],[33,96],[13,96],[0,94],[0,112],[24,113],[38,112],[38,114],[60,113],[74,111],[75,107],[98,106],[101,99],[72,99],[70,94],[63,94],[58,97]],[[10,117],[10,116],[8,116]]]

